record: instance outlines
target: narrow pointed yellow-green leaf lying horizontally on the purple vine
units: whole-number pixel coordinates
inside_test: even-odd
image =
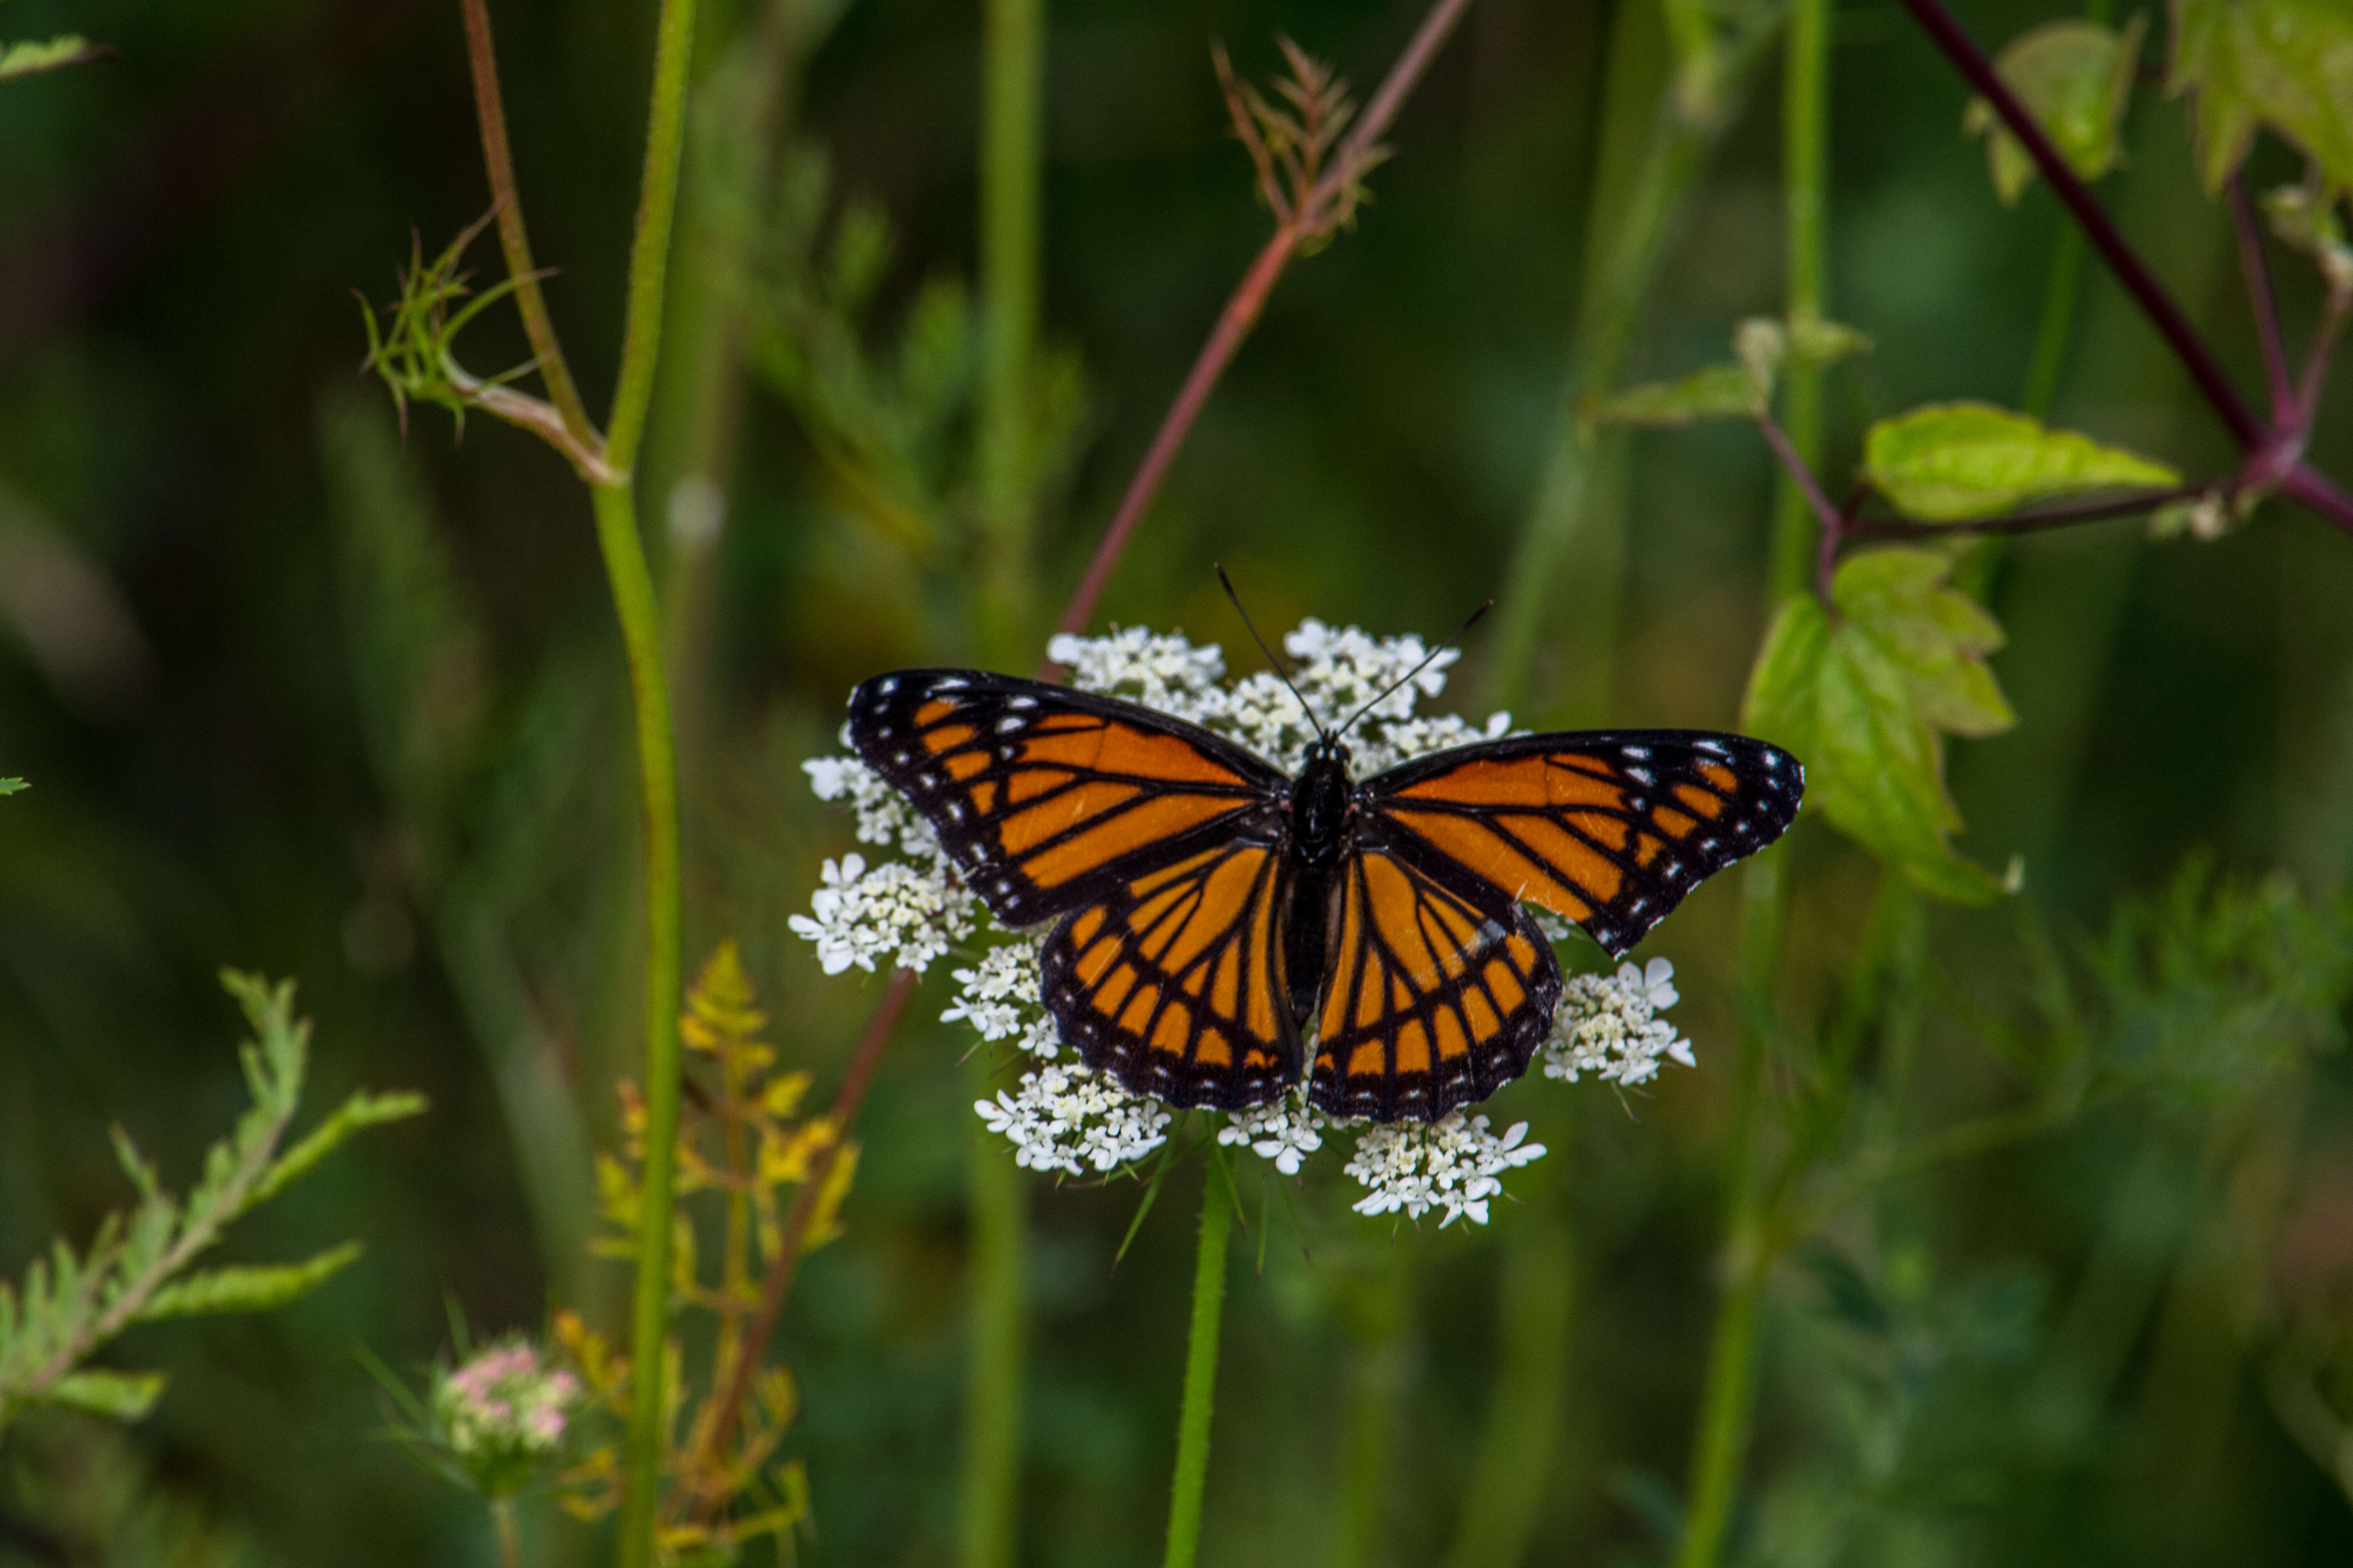
[[[2024,501],[2113,487],[2174,487],[2165,463],[2049,430],[1988,402],[1932,402],[1871,425],[1864,477],[1906,517],[1967,522]]]

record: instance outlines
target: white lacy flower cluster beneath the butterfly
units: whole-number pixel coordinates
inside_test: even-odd
[[[1417,715],[1424,696],[1438,696],[1457,654],[1442,651],[1426,670],[1419,637],[1369,637],[1358,628],[1304,621],[1282,637],[1292,658],[1292,689],[1273,672],[1226,684],[1226,661],[1217,646],[1195,646],[1179,635],[1127,628],[1111,637],[1054,637],[1049,654],[1071,670],[1082,691],[1122,696],[1146,708],[1191,719],[1268,762],[1297,771],[1315,741],[1315,724],[1344,724],[1374,703],[1348,733],[1355,773],[1362,778],[1412,757],[1511,733],[1511,715],[1475,726],[1452,715]],[[1412,679],[1405,679],[1412,672]],[[1398,691],[1381,696],[1391,684]],[[1301,712],[1301,698],[1308,712]],[[1313,722],[1308,715],[1313,712]],[[847,745],[847,731],[842,736]],[[979,900],[962,886],[932,825],[856,757],[819,757],[802,764],[819,799],[845,802],[856,816],[856,837],[882,851],[875,865],[849,853],[826,860],[824,886],[812,914],[795,914],[795,933],[816,943],[826,973],[852,964],[894,964],[922,971],[969,940],[981,924]],[[1558,919],[1539,914],[1555,940],[1567,936]],[[991,929],[993,922],[991,922]],[[1172,1112],[1158,1100],[1127,1093],[1118,1079],[1078,1063],[1056,1060],[1061,1039],[1040,999],[1042,945],[1014,936],[991,945],[969,969],[955,971],[955,999],[946,1023],[969,1023],[986,1041],[1012,1041],[1038,1058],[1021,1086],[979,1100],[981,1119],[1014,1145],[1014,1159],[1031,1171],[1108,1173],[1167,1143]],[[1553,1037],[1544,1046],[1544,1072],[1577,1081],[1600,1074],[1614,1084],[1657,1077],[1659,1058],[1692,1063],[1692,1046],[1659,1011],[1675,1001],[1673,969],[1652,959],[1649,971],[1624,966],[1614,978],[1579,976],[1567,983]],[[1221,1145],[1247,1145],[1297,1175],[1334,1124],[1306,1105],[1304,1091],[1235,1112],[1219,1131]],[[1525,1166],[1544,1145],[1525,1143],[1527,1124],[1504,1135],[1487,1131],[1487,1117],[1454,1112],[1433,1126],[1365,1126],[1358,1133],[1348,1175],[1367,1187],[1358,1213],[1445,1211],[1445,1225],[1487,1222],[1487,1204],[1504,1190],[1501,1171]]]

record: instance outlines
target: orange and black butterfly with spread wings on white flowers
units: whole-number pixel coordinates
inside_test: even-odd
[[[1198,724],[1009,675],[896,670],[849,696],[859,757],[981,903],[1054,922],[1061,1039],[1179,1107],[1266,1105],[1301,1074],[1332,1117],[1482,1100],[1560,999],[1522,905],[1619,957],[1805,795],[1795,757],[1729,733],[1511,736],[1355,780],[1346,731],[1318,726],[1289,776]]]

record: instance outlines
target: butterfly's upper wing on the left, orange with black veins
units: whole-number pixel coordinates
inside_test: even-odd
[[[1287,783],[1195,724],[981,670],[878,675],[849,693],[849,743],[1007,926],[1115,898],[1235,832],[1278,832]]]

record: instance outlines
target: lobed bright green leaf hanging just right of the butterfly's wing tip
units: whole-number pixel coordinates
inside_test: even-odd
[[[1744,726],[1807,764],[1807,802],[1953,903],[2002,884],[1953,853],[1960,811],[1944,788],[1944,736],[1986,736],[2014,717],[1984,656],[2000,625],[1946,585],[1939,550],[1868,550],[1833,578],[1833,621],[1812,597],[1781,607],[1748,679]]]

